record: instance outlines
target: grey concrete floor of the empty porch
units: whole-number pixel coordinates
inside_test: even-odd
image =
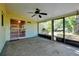
[[[7,42],[3,56],[79,56],[79,48],[40,37]]]

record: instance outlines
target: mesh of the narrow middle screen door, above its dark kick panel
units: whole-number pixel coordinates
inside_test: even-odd
[[[63,19],[54,20],[54,40],[56,37],[63,38]]]

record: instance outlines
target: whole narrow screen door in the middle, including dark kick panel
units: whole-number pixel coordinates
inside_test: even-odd
[[[54,20],[54,40],[64,42],[64,19]]]

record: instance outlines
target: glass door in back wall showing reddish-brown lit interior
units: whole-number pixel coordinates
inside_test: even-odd
[[[22,39],[25,35],[25,21],[10,20],[10,38],[11,40]]]

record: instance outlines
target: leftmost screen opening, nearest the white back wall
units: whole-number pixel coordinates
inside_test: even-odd
[[[51,21],[39,23],[39,34],[51,35]]]

